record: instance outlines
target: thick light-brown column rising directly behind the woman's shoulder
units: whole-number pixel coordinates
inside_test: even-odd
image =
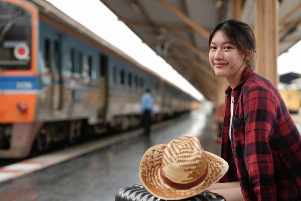
[[[255,72],[267,78],[276,87],[279,76],[277,72],[278,57],[278,0],[254,0],[255,37],[257,55],[255,55]],[[256,58],[257,56],[257,58]]]

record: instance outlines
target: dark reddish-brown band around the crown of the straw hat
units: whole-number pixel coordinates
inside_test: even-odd
[[[167,185],[169,185],[173,188],[179,189],[179,190],[187,190],[187,189],[190,189],[190,188],[193,188],[193,187],[199,185],[200,183],[202,183],[202,181],[204,181],[204,179],[206,178],[206,176],[208,174],[208,166],[206,168],[206,171],[200,178],[198,178],[197,180],[190,182],[190,183],[175,183],[175,182],[171,181],[163,174],[162,168],[160,168],[160,174],[161,174],[162,179],[164,180],[164,182]]]

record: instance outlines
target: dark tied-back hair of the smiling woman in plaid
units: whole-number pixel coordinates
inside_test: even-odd
[[[251,58],[247,60],[247,51],[252,50],[253,53],[256,53],[256,41],[252,28],[238,20],[223,21],[212,30],[208,41],[209,49],[214,34],[219,30],[221,30],[225,38],[233,43],[239,52],[242,53],[246,67],[250,67]]]

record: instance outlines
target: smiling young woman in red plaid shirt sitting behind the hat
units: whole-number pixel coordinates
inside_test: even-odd
[[[250,66],[256,52],[252,29],[224,21],[208,44],[215,74],[229,83],[221,153],[229,170],[209,190],[227,201],[301,200],[300,133],[277,88]]]

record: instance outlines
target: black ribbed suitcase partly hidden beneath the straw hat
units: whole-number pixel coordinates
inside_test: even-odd
[[[135,184],[131,187],[121,188],[116,196],[115,201],[164,201],[165,199],[160,199],[150,194],[141,184]],[[181,199],[179,201],[225,201],[225,199],[216,193],[205,190],[202,193],[189,197],[186,199]]]

